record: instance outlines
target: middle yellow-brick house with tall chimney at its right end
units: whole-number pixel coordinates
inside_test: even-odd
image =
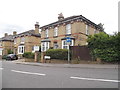
[[[14,53],[21,56],[24,52],[34,52],[35,46],[40,46],[39,24],[36,22],[35,30],[29,30],[14,37]]]

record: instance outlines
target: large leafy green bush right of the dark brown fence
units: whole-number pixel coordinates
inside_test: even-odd
[[[103,61],[119,61],[120,33],[108,35],[104,32],[88,36],[88,47],[93,59],[100,58]]]

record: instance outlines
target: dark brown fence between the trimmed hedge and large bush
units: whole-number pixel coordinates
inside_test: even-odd
[[[86,46],[71,46],[72,59],[92,60],[90,50]]]

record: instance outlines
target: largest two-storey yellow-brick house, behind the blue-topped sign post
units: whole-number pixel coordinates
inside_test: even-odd
[[[88,35],[103,31],[102,24],[95,24],[82,15],[64,18],[59,14],[58,21],[40,27],[41,50],[68,48],[66,37],[71,38],[70,46],[87,45]]]

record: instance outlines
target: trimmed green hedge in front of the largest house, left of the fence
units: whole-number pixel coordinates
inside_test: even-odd
[[[67,49],[49,49],[46,51],[46,55],[50,56],[51,59],[67,60],[68,50]]]

